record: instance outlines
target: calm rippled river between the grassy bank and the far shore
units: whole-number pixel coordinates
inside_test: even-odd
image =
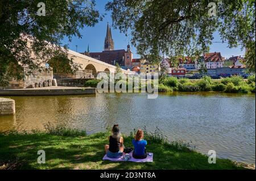
[[[14,96],[16,115],[0,117],[0,132],[44,129],[50,122],[90,133],[119,124],[155,131],[170,141],[183,140],[207,154],[255,164],[255,94],[216,92],[159,94],[97,94],[93,96]]]

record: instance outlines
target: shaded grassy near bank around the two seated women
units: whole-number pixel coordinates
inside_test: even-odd
[[[243,169],[228,159],[209,164],[206,155],[188,144],[167,142],[161,133],[146,133],[153,163],[102,161],[109,132],[86,136],[85,132],[50,129],[46,132],[0,134],[0,169]],[[125,145],[132,146],[132,136]],[[38,164],[38,150],[46,151],[46,164]]]

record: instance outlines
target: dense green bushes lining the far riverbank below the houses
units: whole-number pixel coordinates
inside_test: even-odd
[[[89,80],[85,82],[85,87],[97,87],[100,80]],[[126,83],[128,89],[129,82]],[[117,83],[117,81],[115,82]],[[134,83],[133,83],[134,87]],[[141,90],[141,83],[139,83],[139,90]],[[233,76],[229,78],[221,78],[218,80],[211,79],[205,76],[199,80],[190,80],[187,78],[177,79],[176,77],[165,77],[159,79],[159,92],[196,92],[196,91],[218,91],[218,92],[232,92],[232,93],[255,93],[255,74],[243,79],[240,76]]]

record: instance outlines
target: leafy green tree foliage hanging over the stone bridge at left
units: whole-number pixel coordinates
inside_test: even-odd
[[[60,47],[61,40],[68,37],[71,41],[72,36],[81,38],[81,28],[92,27],[102,19],[94,0],[41,2],[0,1],[1,85],[6,85],[10,77],[23,78],[24,67],[32,72],[52,57],[64,54],[67,57],[67,49]],[[31,47],[27,45],[28,40]]]

